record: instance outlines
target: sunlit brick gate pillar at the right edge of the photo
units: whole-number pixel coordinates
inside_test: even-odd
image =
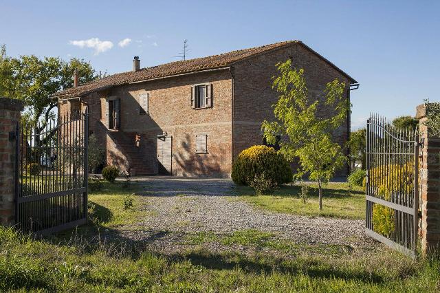
[[[419,203],[421,210],[421,249],[438,252],[440,243],[440,137],[425,124],[426,105],[417,106],[421,152],[419,157]]]

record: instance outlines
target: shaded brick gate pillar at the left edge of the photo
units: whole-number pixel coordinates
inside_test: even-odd
[[[0,98],[0,224],[12,225],[15,217],[15,139],[10,139],[23,111],[23,102]]]

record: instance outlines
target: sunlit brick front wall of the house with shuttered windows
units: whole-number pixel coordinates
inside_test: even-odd
[[[191,86],[212,83],[212,107],[192,109]],[[149,93],[149,113],[140,115],[140,94]],[[108,97],[121,101],[121,129],[108,134],[104,125],[105,102]],[[190,74],[162,80],[151,80],[101,91],[82,98],[89,105],[90,130],[107,149],[107,163],[125,170],[135,135],[140,135],[136,148],[142,156],[144,173],[157,173],[157,135],[173,137],[173,175],[228,176],[232,164],[232,87],[228,70]],[[60,113],[69,111],[61,105]],[[208,134],[208,153],[195,153],[195,135]],[[120,145],[129,144],[128,147]],[[118,146],[119,145],[119,146]]]

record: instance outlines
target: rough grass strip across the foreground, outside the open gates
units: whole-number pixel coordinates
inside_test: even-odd
[[[234,239],[267,237],[252,235]],[[166,256],[76,238],[33,240],[0,228],[0,291],[438,292],[439,270],[439,261],[413,261],[389,250],[355,258],[206,250]]]

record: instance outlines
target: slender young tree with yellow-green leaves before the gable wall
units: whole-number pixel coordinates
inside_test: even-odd
[[[310,101],[304,69],[292,68],[291,60],[276,66],[280,72],[272,85],[280,94],[273,105],[276,121],[265,120],[261,128],[271,144],[281,135],[280,152],[287,160],[299,158],[296,177],[308,173],[311,180],[318,182],[322,210],[322,184],[329,182],[347,160],[341,146],[332,140],[333,131],[342,125],[350,111],[351,105],[344,98],[345,84],[335,79],[327,83],[323,98]],[[321,118],[318,107],[333,108],[332,116]]]

